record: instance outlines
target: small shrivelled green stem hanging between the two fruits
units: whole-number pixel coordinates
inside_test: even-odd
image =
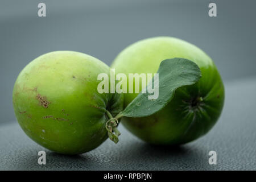
[[[121,135],[121,133],[117,129],[118,119],[113,118],[112,114],[106,110],[106,114],[109,117],[109,120],[106,122],[106,130],[108,131],[108,135],[110,140],[117,143],[119,141],[118,136]]]

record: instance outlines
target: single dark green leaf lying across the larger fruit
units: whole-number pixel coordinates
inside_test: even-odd
[[[152,94],[139,93],[136,98],[122,111],[126,117],[146,117],[152,115],[166,106],[174,97],[175,90],[185,85],[193,85],[201,78],[200,68],[191,60],[174,58],[163,60],[158,69],[159,79],[152,78],[152,84],[159,80],[159,97],[148,100]],[[156,80],[156,81],[155,81]],[[155,88],[154,88],[155,89]]]

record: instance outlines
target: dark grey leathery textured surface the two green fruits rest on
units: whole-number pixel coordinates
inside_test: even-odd
[[[119,127],[118,144],[107,140],[83,155],[65,156],[32,142],[18,123],[0,125],[0,169],[23,170],[251,170],[256,169],[256,77],[228,82],[224,111],[203,138],[181,147],[150,146]],[[45,150],[47,164],[38,164]],[[217,152],[209,165],[208,152]]]

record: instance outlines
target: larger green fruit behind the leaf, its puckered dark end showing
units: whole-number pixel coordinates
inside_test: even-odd
[[[224,105],[224,85],[213,61],[184,40],[171,37],[141,40],[119,53],[112,68],[126,75],[156,73],[162,60],[174,57],[199,65],[200,81],[177,89],[172,101],[157,113],[121,121],[131,133],[152,144],[183,144],[201,137],[217,122]],[[125,94],[124,107],[136,96],[136,93]]]

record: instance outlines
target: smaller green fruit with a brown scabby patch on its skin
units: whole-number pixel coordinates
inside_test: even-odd
[[[97,92],[100,60],[80,52],[56,51],[31,61],[20,72],[13,106],[23,131],[36,143],[61,154],[93,150],[108,138],[106,109],[123,109],[121,94]]]

